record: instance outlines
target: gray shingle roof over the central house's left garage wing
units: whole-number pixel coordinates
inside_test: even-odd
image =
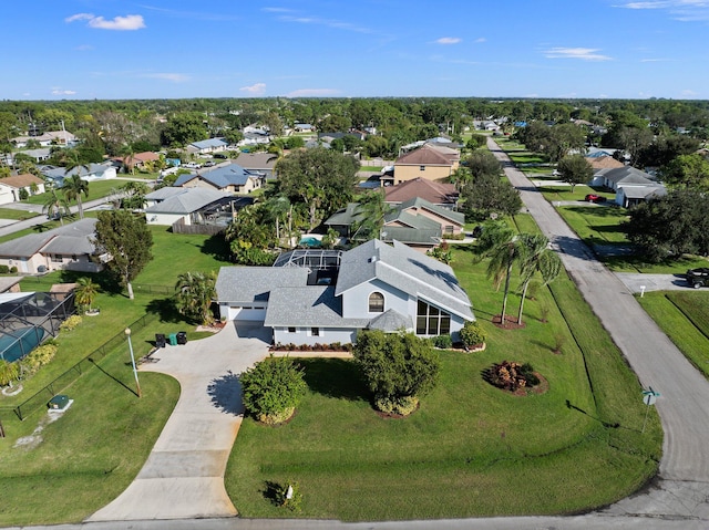
[[[269,291],[308,284],[308,269],[295,267],[222,267],[216,291],[219,302],[269,300]]]

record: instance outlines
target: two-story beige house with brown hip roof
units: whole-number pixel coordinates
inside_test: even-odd
[[[448,179],[458,169],[460,157],[456,149],[424,144],[397,158],[392,184],[401,184],[414,178]]]

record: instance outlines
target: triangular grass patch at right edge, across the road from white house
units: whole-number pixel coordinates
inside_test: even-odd
[[[689,362],[709,377],[709,293],[647,292],[637,299]]]

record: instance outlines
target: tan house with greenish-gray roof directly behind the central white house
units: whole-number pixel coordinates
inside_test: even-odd
[[[342,237],[356,238],[352,226],[362,220],[363,212],[356,202],[330,216],[323,225],[337,230]],[[441,242],[443,235],[463,232],[465,216],[441,208],[428,200],[414,197],[405,202],[392,205],[384,216],[380,237],[384,241],[400,241],[418,250],[429,250]]]

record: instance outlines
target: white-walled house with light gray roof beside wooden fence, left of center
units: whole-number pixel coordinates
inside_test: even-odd
[[[212,188],[161,188],[145,196],[148,225],[204,225],[233,196]]]

